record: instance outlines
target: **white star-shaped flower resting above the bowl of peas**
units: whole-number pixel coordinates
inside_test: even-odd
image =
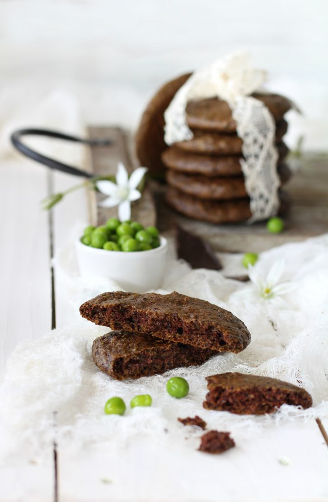
[[[117,165],[116,183],[107,180],[97,181],[98,190],[108,195],[108,197],[99,203],[102,207],[118,206],[118,217],[121,221],[130,219],[131,202],[141,197],[141,193],[137,190],[137,186],[145,175],[147,168],[138,167],[131,176],[128,177],[127,171],[119,162]]]

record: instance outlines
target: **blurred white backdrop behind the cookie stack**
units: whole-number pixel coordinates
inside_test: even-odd
[[[0,0],[0,99],[67,90],[85,122],[135,127],[162,82],[244,47],[304,111],[289,145],[327,150],[327,0]]]

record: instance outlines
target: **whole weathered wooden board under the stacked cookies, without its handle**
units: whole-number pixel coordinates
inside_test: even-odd
[[[92,149],[93,171],[96,174],[116,172],[117,161],[122,160],[131,169],[133,145],[131,136],[117,128],[90,128],[92,138],[109,137],[115,141],[110,148]],[[265,223],[253,225],[214,225],[180,215],[165,203],[166,185],[150,181],[144,191],[142,202],[133,207],[133,218],[140,221],[155,219],[151,194],[156,202],[157,225],[165,235],[173,235],[178,223],[187,230],[209,241],[217,252],[261,252],[285,242],[300,241],[307,237],[328,232],[328,157],[319,154],[304,154],[299,159],[299,170],[285,185],[292,204],[285,217],[286,228],[281,234],[270,234]],[[116,211],[114,208],[112,211]],[[98,221],[109,217],[109,210],[98,209]],[[111,214],[113,215],[113,214]],[[150,224],[150,223],[147,223]]]

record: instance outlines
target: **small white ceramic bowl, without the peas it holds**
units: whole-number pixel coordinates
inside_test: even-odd
[[[83,277],[108,277],[132,293],[144,293],[161,286],[168,247],[165,237],[160,237],[160,245],[154,249],[131,253],[97,249],[79,239],[75,246]]]

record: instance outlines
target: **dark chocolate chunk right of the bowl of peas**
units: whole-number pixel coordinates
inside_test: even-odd
[[[222,265],[210,244],[178,225],[178,258],[186,260],[193,269],[221,270]]]

